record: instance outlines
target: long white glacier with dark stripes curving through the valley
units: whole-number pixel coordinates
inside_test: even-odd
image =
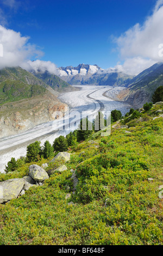
[[[74,86],[75,87],[75,86]],[[122,87],[110,86],[77,86],[79,90],[68,93],[61,93],[58,99],[66,103],[70,107],[70,114],[76,111],[80,114],[96,115],[98,111],[112,111],[118,109],[124,115],[129,111],[131,105],[115,100],[116,94],[123,90]],[[107,96],[105,96],[105,94]],[[72,118],[73,119],[73,118]],[[69,125],[70,119],[68,115],[64,118],[65,125]],[[76,126],[80,122],[77,120]],[[21,132],[15,136],[9,136],[0,139],[0,172],[3,172],[5,164],[10,161],[11,157],[18,159],[26,155],[27,145],[39,140],[43,144],[46,140],[53,143],[54,139],[60,135],[66,135],[71,130],[75,130],[76,126],[71,126],[68,130],[56,131],[56,127],[62,127],[62,118],[54,121],[48,121],[40,125],[36,125],[32,129]]]

